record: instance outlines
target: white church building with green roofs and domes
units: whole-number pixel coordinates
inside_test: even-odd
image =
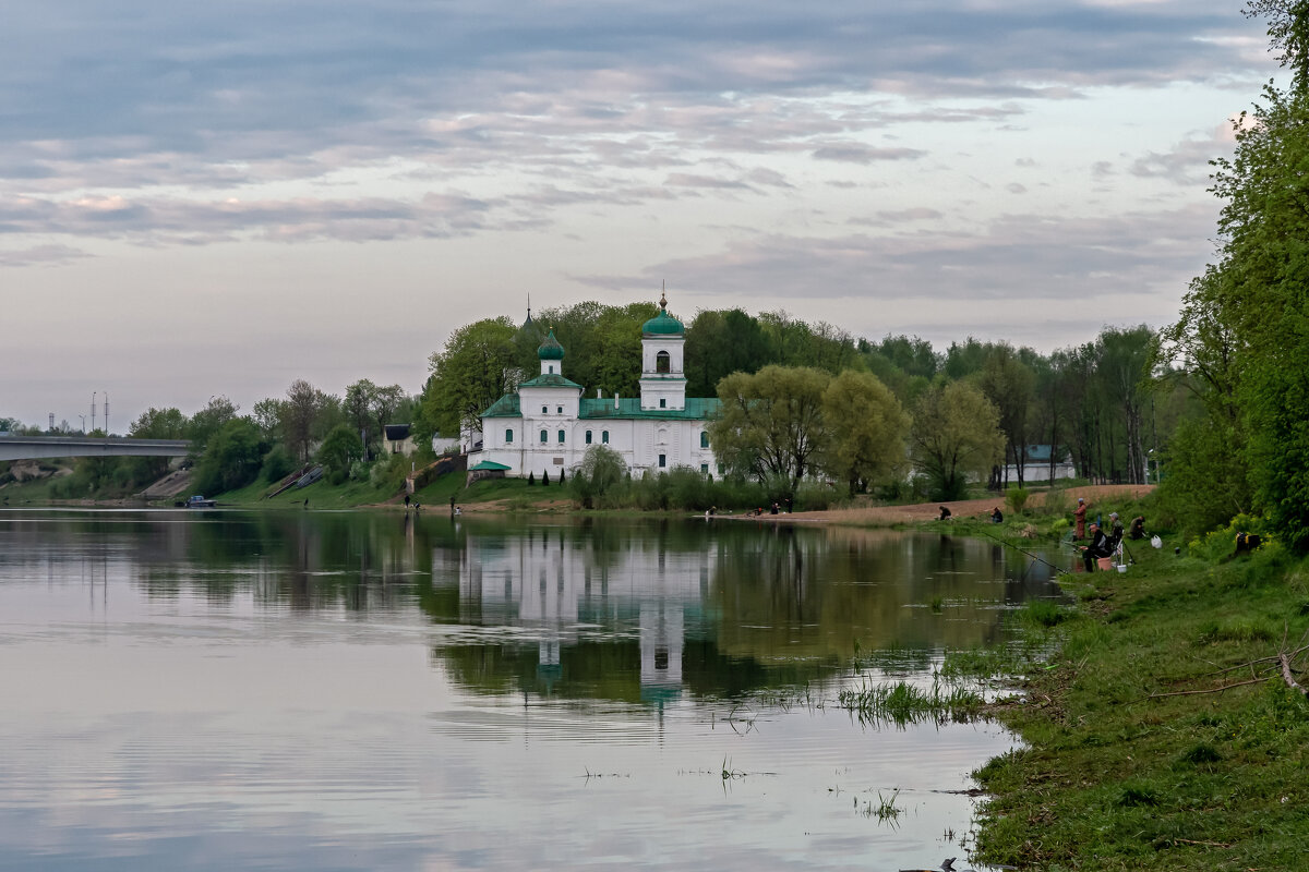
[[[537,478],[572,475],[586,448],[617,451],[632,475],[691,467],[720,475],[707,425],[719,400],[686,396],[682,360],[686,329],[668,314],[641,326],[640,395],[584,397],[564,378],[564,348],[554,331],[537,349],[541,375],[524,382],[482,413],[482,448],[469,454],[469,469]]]

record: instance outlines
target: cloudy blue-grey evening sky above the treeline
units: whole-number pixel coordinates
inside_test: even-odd
[[[462,324],[662,285],[937,350],[1161,327],[1279,73],[1241,9],[8,3],[0,416],[416,394]]]

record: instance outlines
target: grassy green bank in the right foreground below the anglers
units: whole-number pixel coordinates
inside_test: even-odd
[[[1066,577],[1081,608],[1000,713],[1028,749],[978,773],[995,795],[978,862],[1305,865],[1309,702],[1275,658],[1306,642],[1309,565],[1276,545],[1227,560],[1230,544],[1130,543],[1128,573]]]

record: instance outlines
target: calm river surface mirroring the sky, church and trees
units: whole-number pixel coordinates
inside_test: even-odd
[[[935,867],[1013,739],[834,699],[1056,595],[922,533],[3,511],[0,868]]]

